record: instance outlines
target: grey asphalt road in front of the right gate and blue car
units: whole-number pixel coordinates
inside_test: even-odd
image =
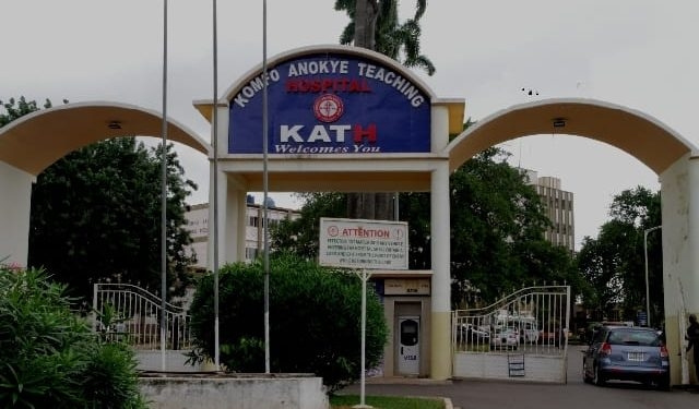
[[[609,382],[605,387],[584,384],[582,347],[568,356],[567,384],[490,381],[367,383],[367,395],[442,396],[461,409],[699,409],[699,393],[647,389],[640,384]],[[343,393],[358,394],[358,385]]]

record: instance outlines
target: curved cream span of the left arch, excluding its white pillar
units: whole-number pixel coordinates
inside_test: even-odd
[[[0,129],[0,161],[37,176],[68,153],[118,136],[162,136],[163,116],[133,105],[66,104],[32,112]],[[209,142],[168,120],[167,137],[209,156]]]

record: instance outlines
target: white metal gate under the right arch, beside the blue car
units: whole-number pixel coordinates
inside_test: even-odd
[[[528,287],[453,311],[453,376],[566,382],[569,317],[569,286]]]

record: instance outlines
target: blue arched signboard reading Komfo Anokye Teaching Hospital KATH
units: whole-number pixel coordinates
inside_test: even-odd
[[[317,53],[268,68],[268,153],[429,152],[430,101],[401,72],[353,55]],[[262,153],[263,76],[230,99],[228,153]]]

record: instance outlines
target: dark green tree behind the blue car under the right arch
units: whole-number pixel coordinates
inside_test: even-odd
[[[578,255],[581,274],[591,285],[588,308],[600,314],[620,308],[626,320],[645,311],[644,230],[662,224],[660,192],[643,187],[625,190],[609,205],[612,219],[600,228],[596,239],[585,238]],[[661,232],[648,237],[651,322],[663,313]]]

